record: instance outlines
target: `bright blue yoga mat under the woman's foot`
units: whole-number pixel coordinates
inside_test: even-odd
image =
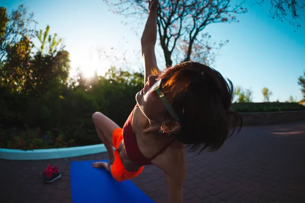
[[[108,162],[108,160],[103,160]],[[71,193],[73,203],[154,202],[130,180],[117,182],[104,169],[93,168],[96,161],[71,161]]]

